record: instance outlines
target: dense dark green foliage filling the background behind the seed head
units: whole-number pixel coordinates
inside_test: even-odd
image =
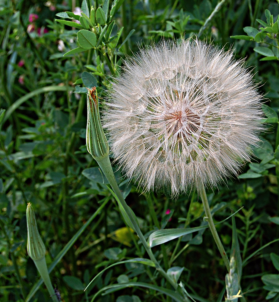
[[[99,290],[96,301],[102,302],[172,301],[163,291],[171,285],[147,260],[112,266],[83,291],[109,265],[148,258],[87,152],[86,93],[97,87],[102,112],[102,97],[125,56],[162,37],[193,34],[233,47],[265,94],[266,126],[254,159],[238,178],[209,190],[208,199],[216,222],[237,212],[216,228],[229,258],[237,259],[238,274],[242,271],[239,300],[279,301],[279,4],[217,5],[217,0],[0,0],[1,302],[50,300],[44,285],[38,289],[38,272],[26,252],[28,202],[63,301],[90,301]],[[142,193],[114,168],[146,239],[154,230],[206,224],[195,191],[176,200]],[[208,229],[152,251],[196,301],[225,300],[227,271]]]

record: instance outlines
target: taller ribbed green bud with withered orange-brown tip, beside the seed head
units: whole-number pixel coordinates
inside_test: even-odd
[[[87,151],[96,160],[109,155],[109,144],[100,120],[96,87],[88,89],[87,94],[86,146]]]

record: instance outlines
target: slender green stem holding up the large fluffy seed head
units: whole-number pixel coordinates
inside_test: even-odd
[[[218,247],[219,252],[220,252],[220,254],[221,254],[221,256],[222,256],[222,258],[225,262],[227,270],[230,271],[230,261],[228,259],[228,256],[227,256],[227,254],[225,252],[225,249],[224,249],[224,246],[221,243],[221,240],[220,240],[220,238],[218,236],[218,233],[217,233],[217,230],[215,228],[204,186],[199,188],[198,191],[199,191],[199,194],[201,196],[201,200],[202,200],[202,204],[203,204],[203,207],[204,207],[205,215],[208,217],[208,226],[211,230],[211,234],[212,234],[212,236],[215,240],[215,243],[217,244],[217,247]]]

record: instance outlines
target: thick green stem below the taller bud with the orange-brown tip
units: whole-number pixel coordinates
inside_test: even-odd
[[[153,261],[156,265],[156,269],[166,278],[166,280],[169,281],[169,283],[173,286],[173,288],[177,289],[178,285],[170,278],[169,275],[163,270],[163,268],[160,266],[158,263],[157,259],[155,258],[150,246],[148,245],[147,241],[145,240],[143,234],[141,233],[141,230],[138,226],[138,221],[136,221],[135,217],[132,215],[132,210],[131,208],[126,204],[122,193],[117,185],[115,176],[113,174],[113,169],[111,167],[111,163],[109,160],[109,156],[99,158],[97,160],[100,168],[102,169],[104,175],[106,176],[107,180],[109,181],[109,184],[111,185],[114,193],[116,194],[117,198],[119,199],[119,202],[121,203],[121,206],[125,210],[128,219],[130,220],[130,223],[132,224],[135,232],[137,233],[139,239],[141,240],[142,245],[144,246],[144,249],[146,250],[147,254],[149,255],[151,261]]]

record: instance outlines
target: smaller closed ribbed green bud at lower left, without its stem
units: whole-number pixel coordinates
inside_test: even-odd
[[[26,220],[27,220],[27,254],[34,262],[39,261],[43,257],[45,257],[46,247],[39,234],[35,213],[30,202],[27,204]]]

